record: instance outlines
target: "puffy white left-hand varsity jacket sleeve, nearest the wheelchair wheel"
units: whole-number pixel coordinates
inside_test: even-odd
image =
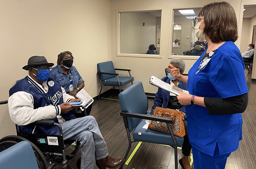
[[[33,96],[24,91],[18,91],[8,99],[9,113],[12,121],[17,125],[27,125],[42,119],[52,119],[60,106],[44,106],[34,109]]]

